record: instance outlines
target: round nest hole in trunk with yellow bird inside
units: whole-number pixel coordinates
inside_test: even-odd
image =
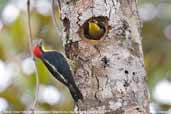
[[[108,20],[103,16],[91,17],[80,26],[78,33],[82,41],[96,46],[103,42],[106,33],[108,33]]]

